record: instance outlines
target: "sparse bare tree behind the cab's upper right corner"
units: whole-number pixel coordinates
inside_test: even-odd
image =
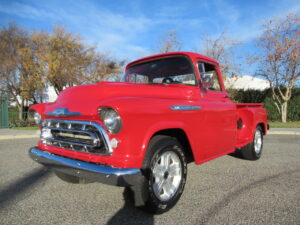
[[[219,62],[222,74],[232,75],[239,71],[239,65],[236,63],[234,54],[236,48],[242,43],[229,38],[225,32],[216,37],[204,35],[200,52]]]

